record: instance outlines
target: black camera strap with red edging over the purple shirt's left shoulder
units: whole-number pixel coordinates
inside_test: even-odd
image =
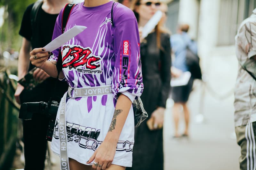
[[[62,33],[64,33],[64,31],[65,31],[66,25],[68,23],[68,18],[70,16],[70,13],[71,13],[72,9],[75,6],[76,6],[76,4],[66,4],[66,6],[64,7],[64,10],[63,10],[63,13],[62,13],[62,22],[61,22],[61,31],[62,31]],[[59,56],[58,56],[58,61],[56,63],[56,67],[57,67],[57,70],[58,70],[58,76],[57,76],[57,79],[58,79],[60,71],[62,70],[61,47],[60,47],[60,52],[59,52]]]

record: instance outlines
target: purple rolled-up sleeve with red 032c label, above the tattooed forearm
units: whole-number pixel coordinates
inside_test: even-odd
[[[139,42],[135,17],[114,27],[115,66],[112,90],[115,99],[122,93],[133,101],[143,91]]]

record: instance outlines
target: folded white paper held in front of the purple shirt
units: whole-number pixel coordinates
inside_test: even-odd
[[[69,29],[67,32],[61,34],[59,37],[52,40],[49,44],[44,46],[45,51],[53,51],[66,42],[68,42],[70,39],[75,37],[77,34],[81,33],[82,31],[87,28],[86,26],[74,26],[71,29]]]

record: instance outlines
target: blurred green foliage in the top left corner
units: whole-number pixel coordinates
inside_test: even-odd
[[[35,1],[0,0],[0,7],[5,6],[5,13],[8,16],[0,28],[0,52],[8,48],[20,49],[22,38],[19,35],[19,30],[23,13],[27,6]]]

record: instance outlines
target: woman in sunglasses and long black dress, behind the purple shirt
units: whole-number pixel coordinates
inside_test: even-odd
[[[133,12],[138,26],[143,27],[160,10],[159,1],[135,0]],[[163,23],[163,22],[162,22]],[[144,90],[141,95],[148,113],[146,121],[135,128],[132,170],[163,170],[163,119],[170,88],[171,46],[170,35],[158,23],[143,40],[140,39],[140,56]],[[149,130],[153,120],[153,130]],[[148,121],[148,123],[147,123]],[[151,124],[152,125],[152,124]]]

